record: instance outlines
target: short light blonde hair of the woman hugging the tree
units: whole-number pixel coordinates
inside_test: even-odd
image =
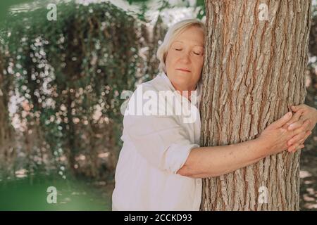
[[[189,27],[199,27],[205,32],[205,25],[202,23],[200,20],[197,19],[186,19],[186,20],[181,20],[178,23],[175,23],[172,25],[169,29],[168,32],[166,33],[163,43],[161,46],[159,46],[159,49],[157,49],[156,52],[156,57],[159,59],[160,64],[159,64],[159,70],[166,72],[166,65],[165,65],[165,60],[166,60],[166,55],[168,52],[168,49],[170,48],[170,44],[172,44],[173,40]]]

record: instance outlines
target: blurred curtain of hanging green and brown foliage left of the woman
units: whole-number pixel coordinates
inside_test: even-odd
[[[98,155],[116,156],[122,145],[120,94],[156,75],[156,50],[166,32],[160,16],[148,30],[147,12],[178,5],[160,0],[153,8],[153,1],[129,1],[138,6],[130,11],[109,2],[70,1],[57,4],[57,20],[49,21],[51,10],[46,6],[51,1],[17,0],[5,8],[22,2],[32,2],[27,8],[36,7],[1,21],[0,41],[6,54],[0,65],[6,78],[12,78],[5,79],[13,81],[11,95],[20,97],[16,115],[23,137],[17,140],[17,151],[27,152],[27,171],[43,168],[48,155],[56,168],[68,165],[77,174],[114,172],[113,165]],[[189,1],[178,4],[189,6]],[[196,7],[203,5],[197,1]],[[35,160],[39,156],[42,160]],[[83,157],[85,164],[78,160]]]

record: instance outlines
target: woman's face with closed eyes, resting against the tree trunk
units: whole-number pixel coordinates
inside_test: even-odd
[[[204,63],[204,32],[189,27],[178,34],[166,55],[166,75],[176,89],[192,91],[201,77]]]

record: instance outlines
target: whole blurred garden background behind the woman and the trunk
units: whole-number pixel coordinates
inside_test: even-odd
[[[312,10],[306,104],[316,108]],[[111,210],[121,108],[156,76],[168,27],[193,17],[206,18],[203,0],[0,1],[0,210]],[[301,156],[301,210],[317,210],[316,131]]]

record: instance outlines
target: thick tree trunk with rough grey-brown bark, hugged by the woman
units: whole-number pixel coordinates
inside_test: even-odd
[[[260,4],[268,20],[259,20]],[[206,16],[201,146],[254,139],[304,103],[311,2],[207,0]],[[299,210],[299,156],[271,155],[204,179],[201,210]]]

